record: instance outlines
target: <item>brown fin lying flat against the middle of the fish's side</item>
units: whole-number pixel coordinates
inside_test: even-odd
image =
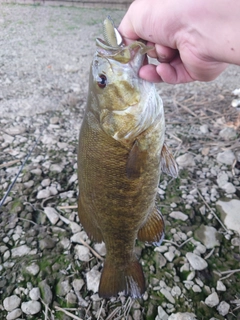
[[[148,152],[141,150],[139,142],[136,140],[129,152],[126,173],[129,179],[137,179],[140,177],[145,167]]]

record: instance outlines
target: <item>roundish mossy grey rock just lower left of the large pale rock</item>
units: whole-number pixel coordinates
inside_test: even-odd
[[[200,228],[194,232],[194,236],[201,241],[207,249],[220,246],[219,240],[221,239],[221,235],[214,227],[201,225]]]

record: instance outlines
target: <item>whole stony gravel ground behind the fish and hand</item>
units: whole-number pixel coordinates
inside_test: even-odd
[[[106,248],[77,216],[77,142],[95,38],[107,14],[117,24],[124,12],[2,3],[0,12],[0,198],[15,181],[0,208],[0,318],[238,319],[239,67],[211,83],[158,85],[180,166],[158,188],[166,237],[136,244],[142,299],[103,300]]]

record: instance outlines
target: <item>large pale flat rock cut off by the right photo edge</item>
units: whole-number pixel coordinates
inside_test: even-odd
[[[217,201],[217,209],[221,213],[221,219],[228,229],[237,231],[240,234],[240,200]]]

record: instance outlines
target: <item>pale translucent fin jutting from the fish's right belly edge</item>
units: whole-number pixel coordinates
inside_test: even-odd
[[[168,147],[164,143],[161,151],[161,169],[162,172],[166,173],[167,175],[177,178],[178,176],[178,166],[173,158],[173,155],[168,150]]]

